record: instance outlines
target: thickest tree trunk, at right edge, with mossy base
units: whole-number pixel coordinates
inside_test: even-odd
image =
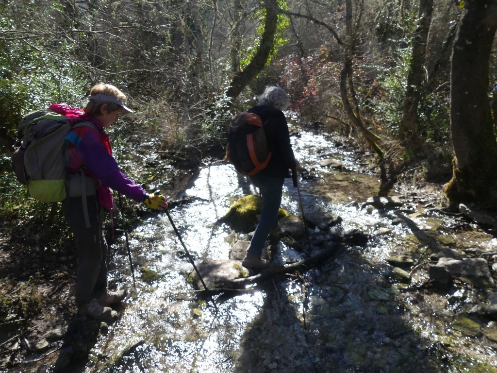
[[[497,142],[489,102],[489,59],[497,1],[469,0],[452,51],[450,126],[454,167],[445,192],[452,207],[496,207]]]

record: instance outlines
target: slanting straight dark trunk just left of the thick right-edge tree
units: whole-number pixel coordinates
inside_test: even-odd
[[[423,82],[423,66],[426,56],[426,44],[428,41],[428,31],[431,23],[431,13],[433,11],[433,0],[419,1],[419,22],[415,31],[413,41],[413,52],[411,66],[407,77],[406,99],[402,110],[402,121],[399,129],[400,140],[409,140],[407,146],[418,144],[419,131],[417,124],[417,105],[421,86]]]

